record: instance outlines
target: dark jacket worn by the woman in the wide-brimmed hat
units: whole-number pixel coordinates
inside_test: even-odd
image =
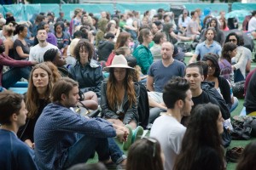
[[[137,96],[137,102],[136,104],[132,104],[131,107],[129,105],[128,96],[125,92],[125,96],[122,103],[122,111],[125,113],[124,117],[124,124],[128,124],[131,121],[139,122],[139,116],[137,113],[137,105],[138,105],[138,99],[139,99],[139,92],[140,88],[137,83],[134,83],[134,88]],[[107,119],[118,119],[118,107],[115,106],[114,111],[112,111],[108,106],[108,100],[107,100],[107,82],[102,82],[102,98],[101,98],[101,106],[102,106],[102,116]]]

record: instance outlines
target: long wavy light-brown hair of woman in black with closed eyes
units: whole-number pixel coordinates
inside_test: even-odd
[[[47,72],[49,77],[49,83],[48,83],[47,90],[45,92],[45,96],[49,97],[50,91],[52,89],[51,81],[52,81],[53,73],[50,70],[49,66],[46,65],[45,63],[40,63],[38,65],[35,65],[31,71],[31,74],[28,80],[28,88],[26,93],[26,108],[28,111],[27,118],[34,118],[38,114],[39,94],[32,79],[33,72],[37,69],[43,69],[44,71]],[[49,101],[49,98],[46,100]]]

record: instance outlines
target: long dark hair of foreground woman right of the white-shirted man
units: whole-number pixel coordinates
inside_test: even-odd
[[[201,152],[203,146],[216,151],[219,161],[222,162],[219,169],[224,169],[224,151],[221,148],[217,125],[218,115],[218,105],[209,103],[195,106],[183,137],[182,149],[175,161],[174,170],[192,170],[198,163],[196,157],[204,156]]]

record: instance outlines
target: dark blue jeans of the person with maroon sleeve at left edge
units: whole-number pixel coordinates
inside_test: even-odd
[[[3,88],[10,88],[15,85],[20,78],[25,78],[28,80],[30,72],[32,70],[31,66],[26,67],[13,67],[9,71],[3,73],[2,86]]]

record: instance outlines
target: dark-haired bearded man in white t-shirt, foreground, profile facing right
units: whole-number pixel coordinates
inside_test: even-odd
[[[172,78],[164,88],[163,100],[167,112],[154,121],[150,137],[160,141],[166,157],[165,169],[172,169],[186,131],[186,127],[180,122],[183,116],[190,115],[191,108],[194,105],[189,89],[189,81],[182,77]]]

